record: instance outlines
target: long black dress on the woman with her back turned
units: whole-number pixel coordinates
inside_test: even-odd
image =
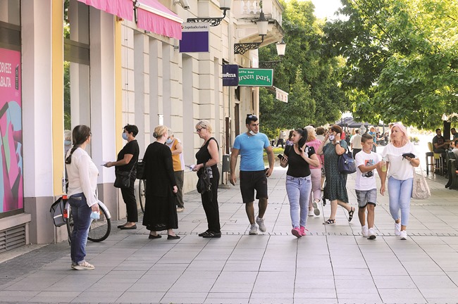
[[[176,186],[172,152],[168,146],[155,141],[143,156],[147,179],[143,225],[151,231],[178,229],[178,215],[173,197]]]

